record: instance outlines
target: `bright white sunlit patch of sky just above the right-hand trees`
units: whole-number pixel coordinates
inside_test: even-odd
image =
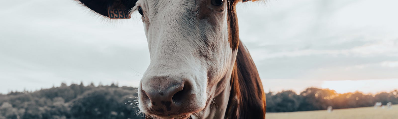
[[[338,93],[363,92],[376,94],[398,88],[398,79],[323,81],[322,88],[336,90]]]

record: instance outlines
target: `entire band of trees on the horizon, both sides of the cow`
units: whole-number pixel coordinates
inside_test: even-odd
[[[300,94],[286,90],[266,96],[267,112],[367,107],[375,102],[398,104],[398,90],[371,95],[307,88]],[[142,119],[142,115],[136,115],[138,107],[129,105],[137,100],[131,97],[137,97],[137,88],[62,83],[35,92],[0,94],[0,119]]]

